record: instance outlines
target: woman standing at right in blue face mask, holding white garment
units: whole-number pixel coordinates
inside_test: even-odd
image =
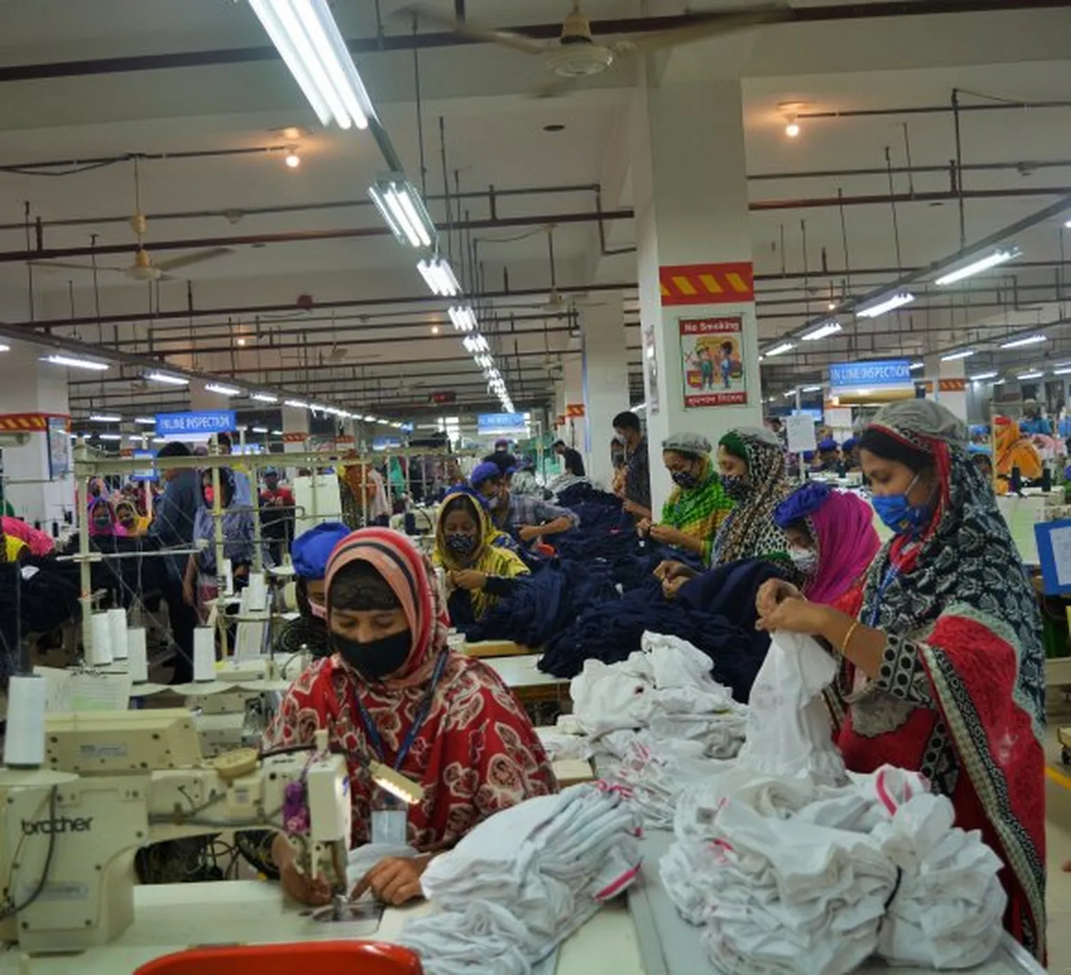
[[[883,409],[859,442],[874,507],[895,532],[841,609],[784,584],[759,625],[824,638],[844,659],[834,695],[853,771],[921,771],[956,825],[1004,860],[1005,927],[1045,954],[1041,619],[993,491],[945,407]]]

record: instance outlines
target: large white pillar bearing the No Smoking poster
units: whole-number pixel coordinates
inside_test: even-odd
[[[661,441],[761,425],[758,328],[738,80],[654,87],[632,124],[644,389],[653,510],[672,482]],[[724,373],[723,373],[724,362]]]

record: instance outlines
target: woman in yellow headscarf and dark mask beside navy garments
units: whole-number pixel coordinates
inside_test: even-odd
[[[483,505],[464,489],[447,495],[435,528],[434,561],[447,571],[450,619],[476,622],[509,596],[528,567],[521,556],[496,545],[495,527]]]

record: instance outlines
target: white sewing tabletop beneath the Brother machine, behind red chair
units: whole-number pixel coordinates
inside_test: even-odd
[[[129,975],[139,965],[195,945],[280,944],[367,939],[395,941],[408,917],[426,913],[421,903],[383,913],[368,922],[321,924],[307,909],[283,897],[276,884],[221,881],[163,884],[135,889],[134,924],[112,944],[80,955],[27,958],[17,948],[0,954],[3,975]],[[20,961],[22,962],[20,964]],[[644,975],[635,931],[622,900],[607,904],[562,946],[557,975]]]

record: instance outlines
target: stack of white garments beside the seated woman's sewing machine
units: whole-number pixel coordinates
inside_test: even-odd
[[[638,820],[620,794],[577,785],[496,813],[421,880],[438,908],[401,943],[426,975],[529,975],[639,870]]]

